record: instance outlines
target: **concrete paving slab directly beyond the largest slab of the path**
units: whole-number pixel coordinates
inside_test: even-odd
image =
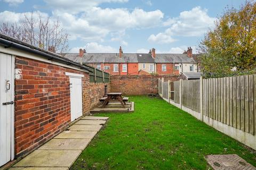
[[[38,149],[84,150],[90,141],[90,139],[52,139]]]

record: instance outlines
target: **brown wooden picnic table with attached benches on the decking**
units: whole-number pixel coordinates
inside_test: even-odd
[[[126,101],[128,101],[129,97],[122,97],[122,92],[110,92],[106,94],[107,97],[102,97],[100,101],[103,101],[102,108],[104,108],[110,101],[119,101],[121,105],[125,108]]]

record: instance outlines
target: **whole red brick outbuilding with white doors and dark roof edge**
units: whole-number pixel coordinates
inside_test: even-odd
[[[94,91],[93,98],[104,94],[87,66],[1,34],[0,65],[0,166],[89,113]]]

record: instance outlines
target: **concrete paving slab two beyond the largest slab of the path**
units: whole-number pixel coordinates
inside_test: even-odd
[[[92,139],[97,131],[64,131],[54,139]]]

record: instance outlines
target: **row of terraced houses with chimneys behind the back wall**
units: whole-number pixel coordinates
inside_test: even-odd
[[[67,53],[65,57],[74,62],[88,64],[111,75],[179,75],[182,72],[198,72],[192,48],[183,54],[157,54],[152,48],[149,53]]]

